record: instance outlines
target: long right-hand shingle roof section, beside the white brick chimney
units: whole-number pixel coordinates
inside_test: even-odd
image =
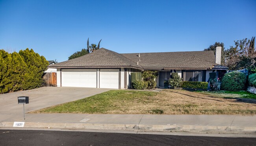
[[[215,68],[213,51],[158,52],[122,54],[131,60],[140,60],[144,69],[206,69]],[[138,57],[140,55],[140,57]],[[218,67],[224,66],[218,65]]]

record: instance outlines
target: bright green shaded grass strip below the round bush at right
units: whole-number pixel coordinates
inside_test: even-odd
[[[220,98],[251,98],[256,99],[256,94],[247,91],[195,91],[202,94],[211,95]]]

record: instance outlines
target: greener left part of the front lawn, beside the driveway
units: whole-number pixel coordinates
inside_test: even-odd
[[[156,96],[157,92],[112,90],[101,94],[68,102],[32,113],[109,113],[120,111],[125,113],[125,107],[136,103],[153,102],[150,97]]]

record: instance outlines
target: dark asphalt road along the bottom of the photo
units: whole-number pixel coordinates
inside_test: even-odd
[[[1,146],[237,146],[256,138],[197,137],[78,131],[0,130]]]

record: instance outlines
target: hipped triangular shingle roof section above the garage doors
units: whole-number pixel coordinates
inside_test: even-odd
[[[119,67],[131,67],[143,69],[137,63],[131,61],[130,59],[124,57],[117,52],[110,51],[105,48],[100,48],[92,53],[83,55],[78,58],[70,59],[61,63],[56,63],[49,66],[51,68],[119,68]]]

